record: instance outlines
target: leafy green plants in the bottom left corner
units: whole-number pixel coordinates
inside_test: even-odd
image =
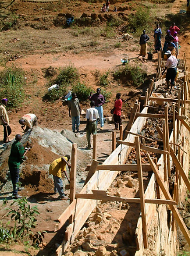
[[[7,202],[4,202],[7,204]],[[17,208],[13,209],[13,204],[16,204]],[[11,208],[8,208],[9,212],[7,216],[11,215],[11,220],[13,220],[13,227],[10,226],[10,221],[4,226],[2,222],[0,223],[0,242],[9,242],[10,240],[18,241],[22,243],[28,243],[30,239],[32,244],[38,247],[42,243],[42,238],[44,238],[45,231],[36,234],[32,231],[37,225],[36,216],[39,214],[38,208],[36,206],[30,207],[26,198],[19,198],[11,203]]]

